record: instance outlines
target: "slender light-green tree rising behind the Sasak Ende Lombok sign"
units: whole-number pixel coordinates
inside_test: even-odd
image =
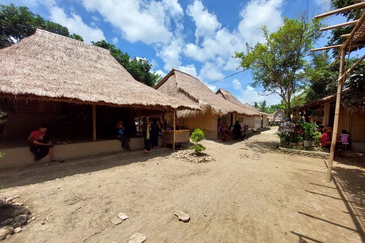
[[[262,27],[265,43],[255,46],[246,43],[246,53],[235,52],[235,57],[241,59],[240,66],[252,70],[251,85],[263,87],[267,95],[279,94],[288,116],[292,113],[292,95],[304,81],[305,57],[321,36],[321,26],[320,21],[310,21],[305,13],[299,13],[296,19],[285,17],[276,32],[270,33]]]

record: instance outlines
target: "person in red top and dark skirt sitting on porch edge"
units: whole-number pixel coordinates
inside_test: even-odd
[[[40,160],[48,154],[52,161],[56,160],[53,155],[52,141],[46,139],[46,132],[47,125],[41,125],[38,130],[33,131],[28,137],[28,141],[31,141],[30,151],[34,154],[34,160]]]

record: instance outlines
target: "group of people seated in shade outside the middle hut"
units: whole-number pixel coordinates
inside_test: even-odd
[[[224,142],[232,139],[239,139],[240,141],[244,139],[248,139],[248,130],[249,126],[244,126],[242,131],[242,127],[239,124],[239,121],[236,121],[235,125],[228,126],[227,122],[222,122],[221,119],[218,119],[217,132],[218,132],[218,140],[219,142]]]

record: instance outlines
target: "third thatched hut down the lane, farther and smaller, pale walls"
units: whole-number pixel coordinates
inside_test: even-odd
[[[256,107],[254,107],[248,103],[242,104],[228,90],[219,88],[219,90],[216,92],[216,94],[227,101],[233,102],[237,105],[240,105],[248,110],[255,112],[255,115],[253,115],[253,116],[245,116],[245,117],[239,118],[239,122],[240,122],[241,126],[248,125],[250,128],[253,128],[255,130],[260,130],[262,128],[267,127],[268,116],[270,116],[269,114],[259,111],[258,109],[256,109]]]

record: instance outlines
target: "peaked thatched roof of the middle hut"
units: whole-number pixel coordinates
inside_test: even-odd
[[[202,113],[211,112],[218,116],[231,112],[237,112],[246,116],[257,114],[252,110],[219,97],[199,79],[177,69],[172,69],[155,88],[165,94],[183,100],[186,104],[199,105]],[[185,110],[178,112],[178,116],[196,116],[198,113],[197,111]]]

